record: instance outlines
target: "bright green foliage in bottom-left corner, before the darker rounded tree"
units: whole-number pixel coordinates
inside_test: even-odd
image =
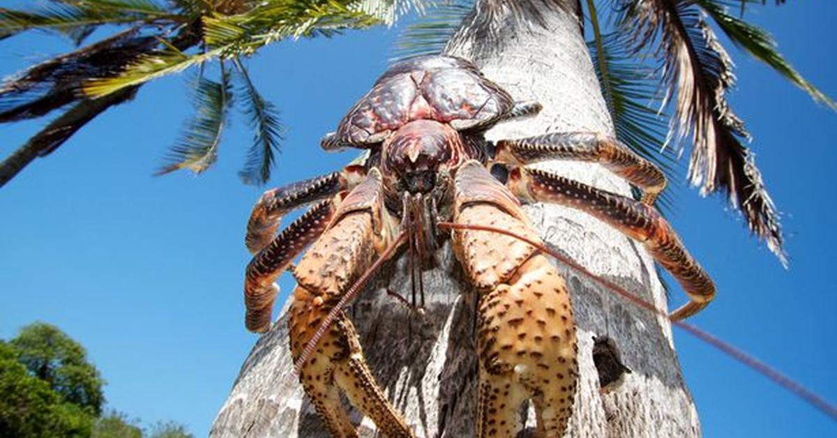
[[[16,348],[0,341],[0,436],[86,437],[93,417],[68,403],[18,362]]]

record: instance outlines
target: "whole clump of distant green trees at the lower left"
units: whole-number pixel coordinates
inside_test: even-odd
[[[146,431],[119,411],[102,414],[104,385],[80,343],[50,324],[29,324],[0,340],[0,437],[193,437],[174,421]]]

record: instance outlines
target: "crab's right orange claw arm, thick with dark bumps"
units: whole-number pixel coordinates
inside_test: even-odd
[[[454,222],[486,224],[540,241],[521,205],[479,162],[456,173]],[[575,322],[564,279],[521,240],[452,232],[454,254],[480,293],[478,436],[514,436],[519,409],[535,402],[539,430],[561,436],[578,378]]]

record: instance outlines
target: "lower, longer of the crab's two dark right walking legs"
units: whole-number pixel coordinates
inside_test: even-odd
[[[700,312],[715,297],[715,285],[706,271],[686,251],[671,225],[648,205],[524,167],[512,168],[506,184],[521,199],[579,209],[642,242],[689,296],[688,303],[671,313],[675,321]]]

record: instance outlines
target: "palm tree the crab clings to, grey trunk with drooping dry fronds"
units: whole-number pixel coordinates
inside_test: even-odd
[[[740,2],[742,8],[745,4]],[[637,152],[657,157],[673,175],[678,170],[675,162],[656,152],[667,143],[677,152],[677,145],[691,142],[690,181],[701,186],[701,193],[726,193],[753,234],[784,262],[776,209],[752,152],[743,144],[747,133],[742,122],[725,99],[732,86],[732,64],[707,18],[733,43],[815,100],[832,108],[834,103],[783,60],[767,33],[727,11],[739,2],[618,0],[611,5],[612,29],[606,32],[602,23],[608,22],[599,19],[592,1],[586,2],[593,33],[589,45],[583,39],[581,2],[477,0],[435,9],[408,29],[402,48],[408,54],[442,50],[471,59],[517,99],[542,102],[544,111],[536,118],[497,126],[489,137],[607,132]],[[670,135],[657,114],[659,106],[672,109]],[[600,188],[630,193],[627,184],[597,166],[545,166]],[[665,307],[665,288],[653,262],[633,242],[570,209],[536,204],[527,211],[560,253]],[[404,326],[404,311],[380,284],[352,309],[353,321],[378,382],[419,435],[471,436],[475,294],[459,280],[446,254],[439,270],[426,273],[428,312],[409,318],[409,330],[393,330]],[[388,282],[396,291],[408,288],[402,263]],[[700,435],[670,323],[612,297],[573,271],[566,274],[578,317],[581,358],[572,435]],[[323,434],[292,371],[282,315],[244,363],[211,435]],[[528,424],[531,421],[530,413]],[[370,426],[363,421],[361,435],[371,435]]]

